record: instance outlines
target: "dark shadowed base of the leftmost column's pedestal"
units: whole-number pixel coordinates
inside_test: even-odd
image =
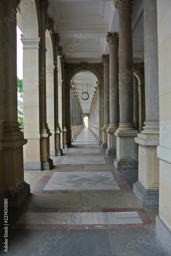
[[[22,204],[26,197],[30,194],[30,185],[23,181],[16,189],[8,191],[8,206],[17,208]]]

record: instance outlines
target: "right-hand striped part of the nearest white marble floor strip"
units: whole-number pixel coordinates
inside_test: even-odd
[[[123,221],[116,216],[121,214]],[[67,224],[133,224],[142,223],[136,211],[130,212],[69,212]]]

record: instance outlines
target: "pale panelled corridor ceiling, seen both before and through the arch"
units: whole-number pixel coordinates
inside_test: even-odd
[[[101,62],[109,54],[108,32],[119,32],[119,15],[113,1],[48,0],[48,16],[54,18],[55,32],[68,63]],[[133,1],[132,11],[133,59],[143,61],[143,1]],[[89,113],[96,78],[91,73],[76,75],[72,81],[78,91],[83,113]],[[89,81],[89,100],[81,99],[82,82]]]

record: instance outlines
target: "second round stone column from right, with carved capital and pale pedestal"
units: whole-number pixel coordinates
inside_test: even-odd
[[[116,135],[117,169],[138,167],[137,145],[134,138],[138,131],[133,122],[133,53],[132,53],[132,13],[133,0],[115,0],[119,14],[119,106],[120,122]]]

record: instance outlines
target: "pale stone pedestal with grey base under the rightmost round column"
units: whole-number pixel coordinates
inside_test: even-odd
[[[159,159],[157,145],[159,135],[138,134],[135,142],[139,145],[138,181],[133,185],[133,193],[143,207],[159,205]]]

